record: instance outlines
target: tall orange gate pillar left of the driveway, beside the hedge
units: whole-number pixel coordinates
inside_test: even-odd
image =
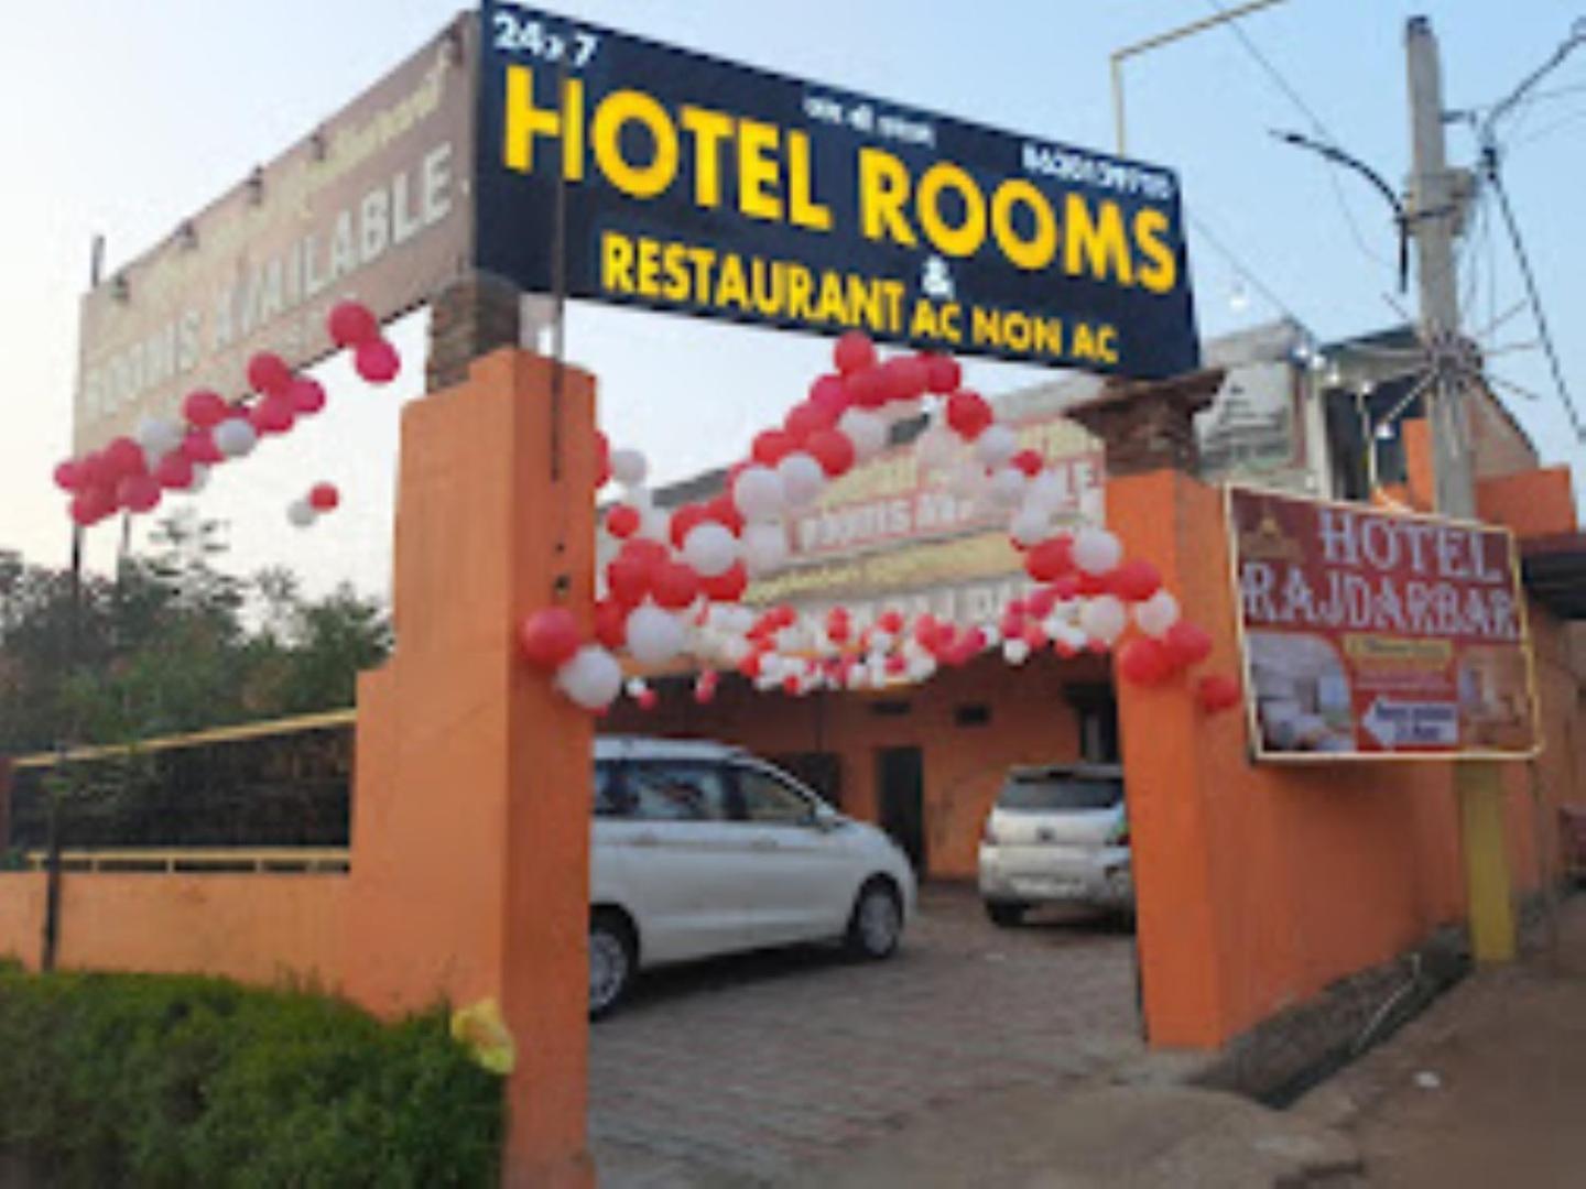
[[[403,412],[396,652],[358,686],[346,992],[392,1015],[495,997],[517,1046],[503,1183],[587,1186],[593,728],[515,656],[590,621],[595,384],[503,349]]]

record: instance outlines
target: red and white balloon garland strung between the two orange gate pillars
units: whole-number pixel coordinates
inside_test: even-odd
[[[1124,558],[1105,528],[1071,531],[1058,523],[1066,484],[1039,452],[1020,449],[1015,430],[983,396],[963,387],[955,360],[882,360],[869,338],[849,333],[837,339],[833,361],[836,371],[815,379],[782,425],[753,438],[749,457],[730,468],[725,490],[709,501],[657,507],[644,455],[611,449],[601,436],[596,485],[615,480],[622,495],[603,515],[611,558],[593,629],[585,636],[560,607],[533,612],[519,626],[523,659],[598,713],[622,693],[641,709],[657,704],[642,677],[623,680],[622,652],[649,669],[691,663],[701,705],[715,698],[722,671],[736,671],[761,691],[804,696],[918,683],[986,652],[1018,666],[1042,648],[1066,658],[1117,648],[1123,679],[1148,686],[1207,659],[1212,637],[1180,617],[1156,566]],[[914,445],[920,466],[1007,517],[1034,590],[974,623],[888,610],[861,625],[844,607],[814,615],[741,606],[750,579],[790,560],[788,517],[879,455],[893,420],[928,406],[931,423]],[[1239,702],[1239,683],[1207,675],[1194,696],[1215,713]]]

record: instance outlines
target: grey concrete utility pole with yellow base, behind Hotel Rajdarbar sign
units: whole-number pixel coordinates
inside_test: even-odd
[[[1443,78],[1437,36],[1424,16],[1413,16],[1404,32],[1410,81],[1410,144],[1415,168],[1405,203],[1415,239],[1421,296],[1421,336],[1431,354],[1432,477],[1437,510],[1461,520],[1475,518],[1475,449],[1459,369],[1451,355],[1459,341],[1459,277],[1454,233],[1461,189],[1448,168],[1443,140]],[[1491,759],[1454,763],[1459,799],[1465,899],[1470,913],[1470,950],[1478,962],[1515,959],[1515,905],[1504,837],[1504,774]]]

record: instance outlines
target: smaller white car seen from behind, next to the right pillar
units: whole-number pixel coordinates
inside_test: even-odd
[[[980,839],[980,899],[1010,927],[1042,904],[1134,913],[1123,769],[1110,764],[1017,767]]]

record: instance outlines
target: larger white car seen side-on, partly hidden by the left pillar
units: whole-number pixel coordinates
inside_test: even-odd
[[[887,958],[914,907],[893,840],[787,772],[723,744],[595,740],[590,1016],[668,962],[823,940]]]

